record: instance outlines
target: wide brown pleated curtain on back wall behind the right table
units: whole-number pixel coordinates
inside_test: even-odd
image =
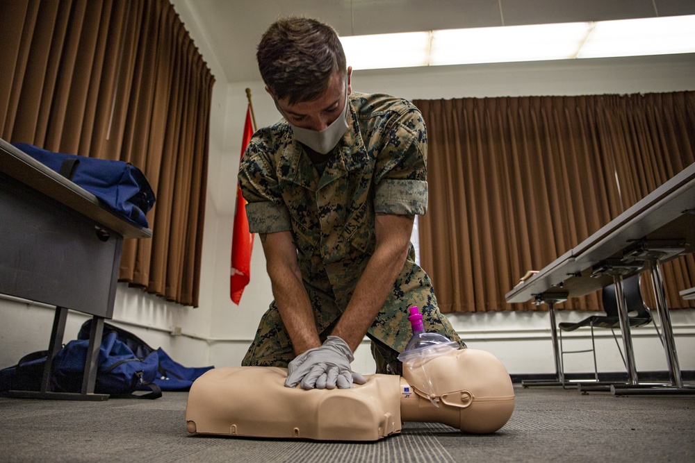
[[[695,162],[694,92],[414,103],[429,136],[420,259],[443,312],[545,310],[505,294]],[[695,307],[678,295],[693,256],[663,269],[669,306]]]

